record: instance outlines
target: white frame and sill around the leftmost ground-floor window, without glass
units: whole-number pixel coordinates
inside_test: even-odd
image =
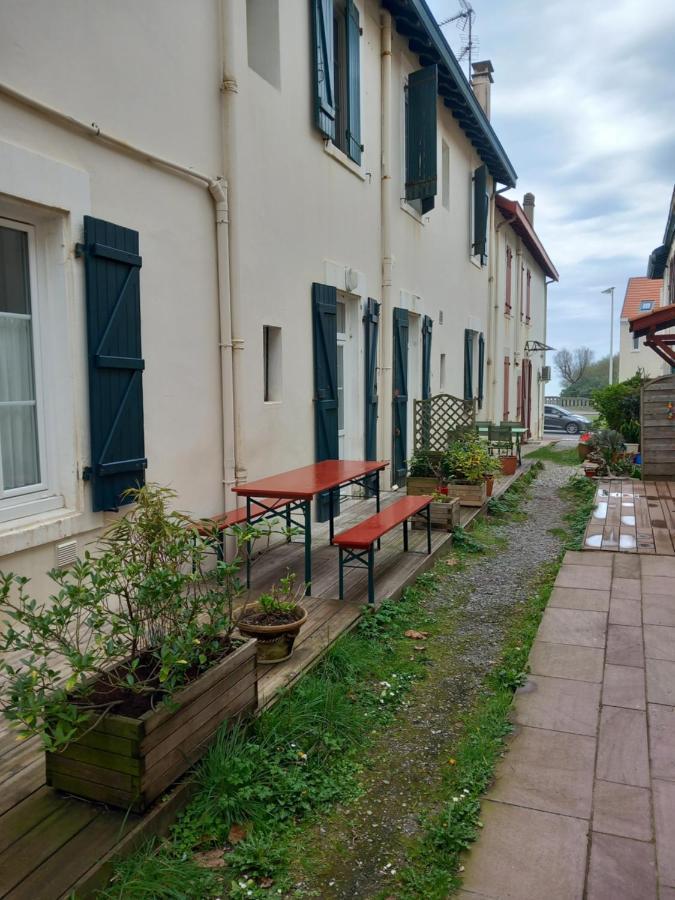
[[[33,378],[35,382],[36,429],[38,440],[38,461],[40,481],[36,484],[24,485],[5,490],[0,479],[0,522],[29,516],[34,513],[56,509],[63,505],[59,496],[50,490],[48,433],[45,422],[45,390],[42,367],[42,334],[40,315],[40,291],[37,265],[37,240],[35,226],[16,219],[0,217],[0,226],[20,231],[28,241],[28,277],[31,298],[31,338],[33,349]],[[0,471],[2,460],[0,458]]]

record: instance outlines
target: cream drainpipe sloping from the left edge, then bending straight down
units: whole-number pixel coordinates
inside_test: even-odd
[[[57,122],[63,128],[75,132],[82,137],[105,144],[107,147],[123,153],[131,159],[146,163],[162,169],[173,175],[184,178],[192,184],[208,188],[215,205],[216,220],[216,265],[218,270],[218,318],[220,324],[220,381],[222,385],[222,413],[223,413],[223,502],[226,510],[236,505],[234,495],[230,488],[235,483],[236,456],[234,453],[234,416],[233,408],[233,375],[232,375],[232,323],[230,303],[230,250],[229,250],[229,216],[228,216],[228,189],[227,182],[219,176],[214,178],[189,166],[183,166],[166,157],[158,156],[122,140],[109,132],[104,131],[96,122],[87,123],[74,116],[49,106],[17,91],[7,84],[0,83],[0,96],[8,97],[15,103],[32,109],[45,118]]]

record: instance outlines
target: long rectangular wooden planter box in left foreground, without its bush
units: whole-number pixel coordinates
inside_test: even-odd
[[[60,753],[47,753],[47,784],[142,812],[204,753],[225,719],[255,709],[256,641],[247,641],[174,697],[139,718],[108,715]]]

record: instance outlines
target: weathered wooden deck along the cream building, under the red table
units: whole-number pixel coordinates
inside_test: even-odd
[[[495,483],[495,496],[503,493],[528,467]],[[400,496],[400,495],[399,495]],[[383,494],[382,503],[393,502],[396,493]],[[375,511],[374,500],[343,501],[338,531]],[[462,509],[465,527],[484,509]],[[401,529],[382,539],[375,563],[375,594],[397,598],[450,546],[451,536],[434,531],[432,554],[402,551]],[[426,532],[410,531],[410,550],[424,550]],[[259,682],[259,706],[274,701],[280,689],[311,668],[326,649],[352,628],[366,601],[366,571],[349,569],[345,601],[337,600],[337,550],[328,545],[328,526],[312,529],[313,596],[306,598],[309,613],[293,656],[270,666]],[[253,565],[251,596],[255,597],[283,575],[286,569],[303,577],[301,543],[274,548]],[[115,860],[133,852],[149,837],[166,833],[180,810],[189,802],[194,787],[189,780],[166,794],[143,816],[125,815],[102,805],[60,794],[44,783],[44,758],[35,739],[17,743],[7,726],[0,724],[0,898],[56,900],[91,895],[112,874]]]

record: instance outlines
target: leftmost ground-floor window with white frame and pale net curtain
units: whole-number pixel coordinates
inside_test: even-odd
[[[0,501],[44,488],[33,230],[0,219]]]

